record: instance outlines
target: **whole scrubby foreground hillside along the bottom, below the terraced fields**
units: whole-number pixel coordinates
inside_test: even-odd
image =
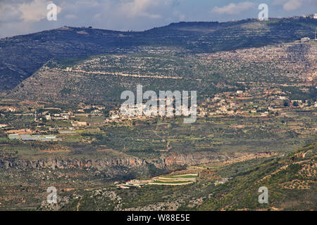
[[[185,186],[113,186],[61,196],[59,210],[316,210],[317,143],[282,157],[258,158],[199,169]],[[203,167],[201,167],[203,168]],[[227,177],[225,184],[216,181]],[[268,204],[258,202],[260,186]],[[155,191],[154,191],[155,190]],[[39,210],[51,207],[44,202]]]

